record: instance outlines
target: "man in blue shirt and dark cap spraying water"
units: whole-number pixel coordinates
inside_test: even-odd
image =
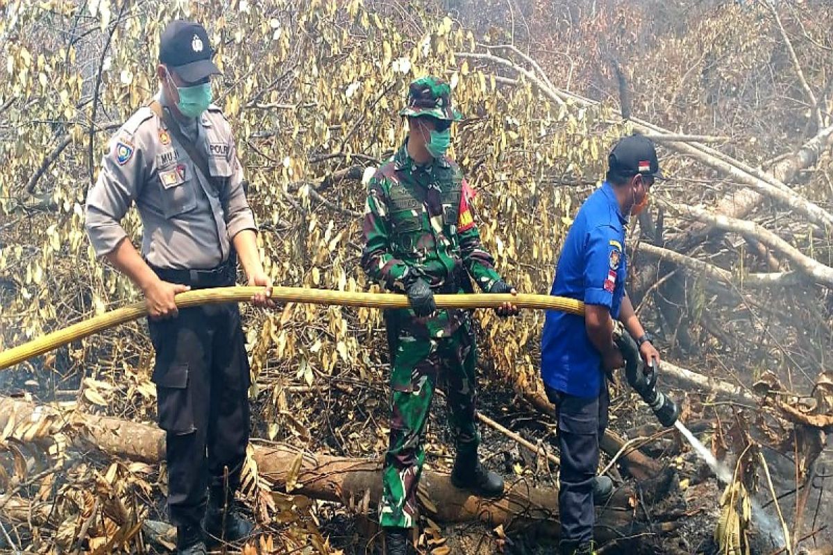
[[[561,553],[595,553],[594,494],[609,493],[610,478],[596,477],[599,439],[607,425],[605,374],[623,366],[613,343],[620,320],[639,344],[646,364],[659,364],[625,292],[625,226],[647,204],[661,177],[656,149],[645,136],[627,136],[608,157],[604,184],[581,206],[567,234],[551,295],[582,300],[585,315],[548,311],[541,338],[541,377],[556,405],[561,448]]]

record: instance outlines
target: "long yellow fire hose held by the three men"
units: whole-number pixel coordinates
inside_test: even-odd
[[[176,297],[178,308],[197,305],[244,302],[261,291],[261,287],[218,287],[186,291]],[[506,301],[522,309],[561,310],[576,315],[584,314],[584,303],[580,300],[555,297],[551,295],[516,296],[501,294],[481,295],[435,295],[436,307],[439,309],[482,309],[496,308]],[[272,287],[272,300],[278,303],[309,303],[312,305],[365,306],[377,309],[407,308],[406,295],[389,293],[350,293],[326,289],[305,289],[300,287]],[[0,353],[0,369],[8,368],[24,360],[44,354],[62,345],[97,334],[132,320],[147,316],[144,302],[123,306],[89,320],[83,320],[62,330],[53,331],[28,343],[17,345]]]

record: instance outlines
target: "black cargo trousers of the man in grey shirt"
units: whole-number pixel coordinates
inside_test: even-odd
[[[168,510],[177,527],[197,527],[207,489],[233,495],[246,458],[250,377],[240,310],[182,309],[173,319],[148,320],[148,328],[159,427],[167,433]]]

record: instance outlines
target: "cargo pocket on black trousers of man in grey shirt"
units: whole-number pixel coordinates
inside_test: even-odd
[[[157,385],[159,427],[171,434],[191,434],[194,414],[188,389],[188,364],[170,364],[153,372]]]

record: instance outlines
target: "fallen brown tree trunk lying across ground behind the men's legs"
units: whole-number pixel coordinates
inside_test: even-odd
[[[35,427],[41,437],[67,434],[83,446],[95,446],[116,457],[157,463],[164,456],[164,433],[151,424],[137,424],[122,419],[62,413],[52,407],[36,405],[19,399],[0,397],[0,429],[12,435]],[[327,501],[345,503],[347,507],[375,506],[382,493],[381,462],[357,458],[332,457],[302,453],[291,446],[257,444],[254,458],[260,473],[275,488],[286,488],[290,469],[298,456],[300,469],[292,481],[292,493]],[[422,473],[419,495],[427,516],[436,522],[482,522],[490,527],[536,528],[559,533],[558,490],[537,488],[526,478],[507,480],[506,494],[500,499],[481,499],[454,488],[447,473],[426,468]],[[616,492],[605,508],[600,508],[596,521],[596,538],[602,541],[638,533],[645,526],[635,516],[636,501],[626,488]],[[19,511],[17,512],[19,513]],[[655,520],[661,517],[653,515]]]

